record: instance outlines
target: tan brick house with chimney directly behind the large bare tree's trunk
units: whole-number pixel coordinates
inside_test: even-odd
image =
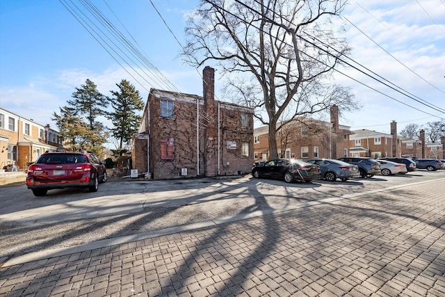
[[[308,160],[348,156],[348,126],[339,125],[339,110],[332,106],[330,122],[312,118],[296,118],[277,124],[278,154],[283,158]],[[254,161],[267,161],[270,156],[268,126],[254,129]]]

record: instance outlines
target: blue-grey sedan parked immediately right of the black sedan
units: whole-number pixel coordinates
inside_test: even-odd
[[[340,160],[312,159],[309,163],[320,166],[321,178],[334,182],[337,178],[346,182],[351,177],[360,177],[357,165],[349,164]]]

